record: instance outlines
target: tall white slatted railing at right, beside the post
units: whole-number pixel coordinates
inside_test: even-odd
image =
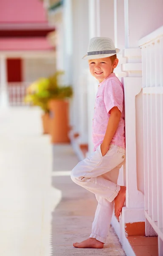
[[[139,41],[142,48],[146,236],[151,226],[163,256],[163,26]]]

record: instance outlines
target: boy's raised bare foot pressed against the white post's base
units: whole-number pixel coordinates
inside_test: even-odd
[[[124,206],[125,198],[126,198],[126,187],[121,186],[121,189],[119,190],[118,195],[114,199],[114,202],[115,202],[115,216],[116,217],[120,216],[122,207]]]

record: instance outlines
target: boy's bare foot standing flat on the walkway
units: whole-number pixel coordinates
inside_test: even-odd
[[[88,238],[80,243],[74,243],[74,247],[76,248],[96,248],[102,249],[104,247],[104,243],[96,240],[96,238]]]

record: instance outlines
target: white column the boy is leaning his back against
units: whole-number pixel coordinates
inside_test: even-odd
[[[124,32],[125,48],[123,57],[126,63],[121,64],[121,71],[126,73],[122,79],[124,84],[125,97],[125,131],[126,131],[126,207],[122,211],[122,221],[124,223],[144,221],[144,194],[141,180],[143,180],[143,158],[139,154],[142,152],[143,145],[143,119],[141,119],[142,105],[142,67],[141,49],[138,44],[135,48],[130,47],[131,20],[136,16],[129,10],[129,2],[124,0]],[[135,10],[133,10],[136,12]],[[132,15],[133,14],[133,15]],[[119,21],[120,22],[120,21]],[[137,26],[133,26],[132,32],[137,31]]]

